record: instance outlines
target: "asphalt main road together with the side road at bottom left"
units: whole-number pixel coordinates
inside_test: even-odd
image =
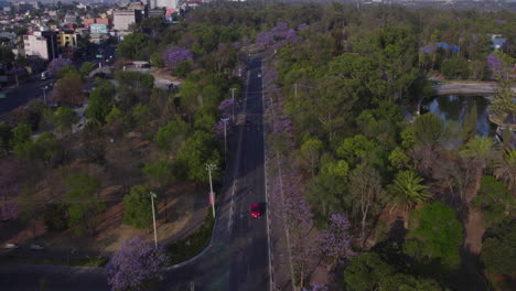
[[[245,115],[236,128],[211,248],[184,267],[164,271],[158,290],[269,290],[269,254],[264,172],[261,60],[249,63]],[[250,217],[258,203],[262,217]],[[42,289],[44,287],[44,289]],[[0,265],[0,289],[108,290],[103,269]]]

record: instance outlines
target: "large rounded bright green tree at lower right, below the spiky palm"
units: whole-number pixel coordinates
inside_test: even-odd
[[[461,263],[462,242],[463,229],[455,212],[442,203],[426,204],[413,213],[404,252],[421,263],[454,270]]]

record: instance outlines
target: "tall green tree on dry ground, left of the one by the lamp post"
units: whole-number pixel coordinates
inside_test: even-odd
[[[79,234],[95,234],[95,228],[100,223],[98,215],[106,208],[98,196],[100,182],[86,173],[77,173],[68,174],[65,184],[68,188],[65,201],[69,203],[69,226]]]

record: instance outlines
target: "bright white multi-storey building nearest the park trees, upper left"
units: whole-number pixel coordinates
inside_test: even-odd
[[[52,31],[34,31],[32,35],[23,35],[25,56],[39,56],[52,60],[57,56],[57,36]]]

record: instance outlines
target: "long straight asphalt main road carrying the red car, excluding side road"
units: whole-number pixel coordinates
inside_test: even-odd
[[[264,173],[261,103],[261,61],[249,64],[246,116],[250,129],[237,128],[235,163],[225,181],[223,203],[213,237],[213,247],[198,260],[166,272],[160,290],[237,291],[269,290],[269,254]],[[235,144],[236,146],[236,144]],[[232,150],[232,149],[230,149]],[[233,180],[233,181],[230,181]],[[258,203],[262,217],[250,217],[250,205]]]

